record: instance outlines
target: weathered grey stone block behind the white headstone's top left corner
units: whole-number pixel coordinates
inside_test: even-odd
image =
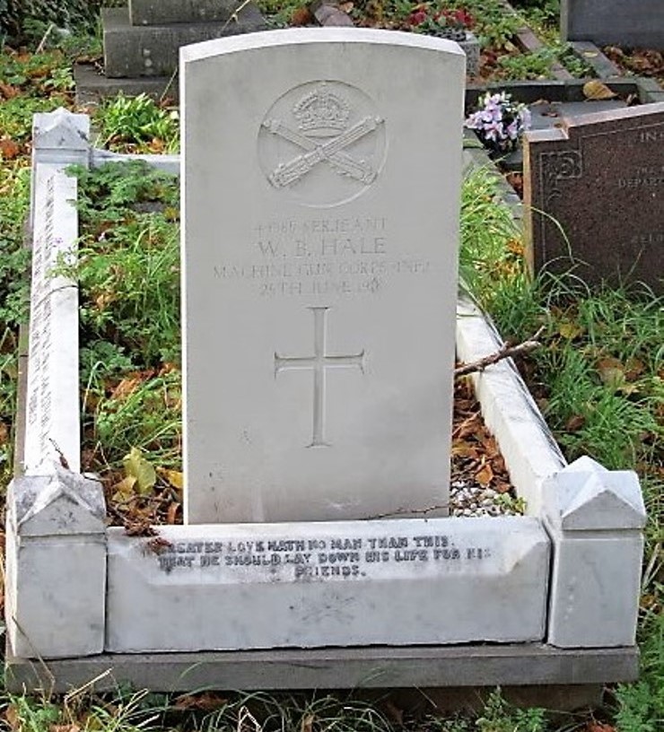
[[[178,67],[180,46],[266,28],[254,4],[245,5],[237,19],[224,22],[135,26],[127,8],[107,8],[101,22],[105,73],[110,78],[169,75]]]

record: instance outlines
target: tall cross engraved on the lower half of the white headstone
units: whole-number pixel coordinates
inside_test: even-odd
[[[275,378],[279,371],[310,369],[313,371],[313,436],[307,447],[329,447],[325,441],[326,370],[358,368],[364,373],[364,350],[353,355],[328,353],[328,307],[310,308],[313,312],[313,355],[280,356],[275,353]]]

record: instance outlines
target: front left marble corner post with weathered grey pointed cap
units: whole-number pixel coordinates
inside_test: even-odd
[[[14,478],[7,493],[7,637],[22,658],[104,646],[106,510],[99,481],[56,466]]]

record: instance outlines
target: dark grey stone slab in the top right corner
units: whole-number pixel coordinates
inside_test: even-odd
[[[564,40],[664,48],[664,4],[660,0],[562,0],[560,28]]]

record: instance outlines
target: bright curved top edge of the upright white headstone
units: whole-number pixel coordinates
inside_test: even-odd
[[[312,43],[383,44],[438,52],[444,51],[455,56],[465,57],[465,53],[458,43],[452,40],[424,36],[419,33],[373,28],[284,28],[227,36],[183,46],[179,49],[179,60],[180,64],[183,64],[218,54]]]

